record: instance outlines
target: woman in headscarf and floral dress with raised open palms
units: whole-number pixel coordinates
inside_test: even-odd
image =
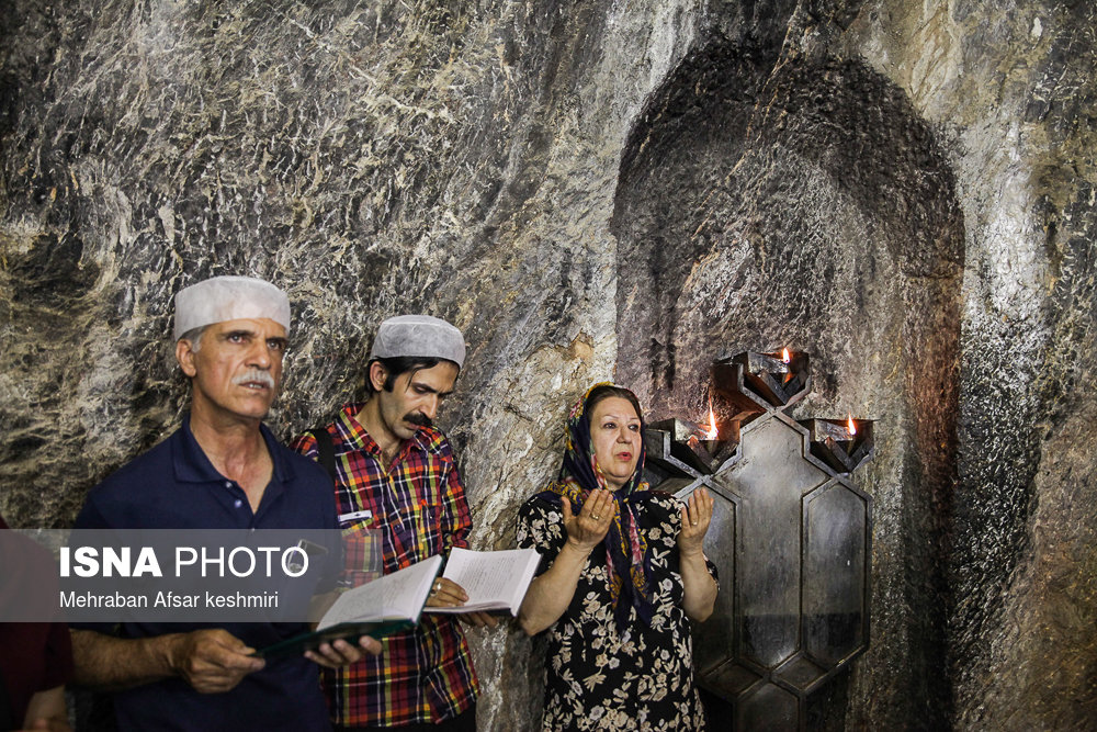
[[[522,506],[519,547],[542,554],[519,620],[548,630],[545,730],[700,730],[689,620],[716,599],[701,550],[703,488],[649,491],[636,396],[597,384],[572,409],[558,478]]]

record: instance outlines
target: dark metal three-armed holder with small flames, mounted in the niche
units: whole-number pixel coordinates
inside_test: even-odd
[[[811,391],[811,358],[782,356],[713,363],[715,439],[681,418],[645,431],[652,485],[681,499],[704,486],[716,502],[704,551],[721,589],[694,629],[694,664],[736,730],[806,731],[832,696],[821,689],[869,646],[872,499],[852,474],[872,455],[873,423],[789,417]]]

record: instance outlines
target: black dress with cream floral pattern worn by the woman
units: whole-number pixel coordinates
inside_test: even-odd
[[[570,605],[546,631],[545,730],[704,729],[678,573],[681,504],[668,494],[655,495],[637,517],[653,570],[652,622],[641,620],[633,608],[626,628],[618,628],[606,548],[596,547]],[[552,566],[566,540],[557,508],[538,496],[525,502],[518,516],[518,545],[541,553],[539,574]],[[711,562],[709,572],[716,576]]]

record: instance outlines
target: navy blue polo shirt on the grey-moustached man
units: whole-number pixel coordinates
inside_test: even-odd
[[[239,485],[206,458],[190,417],[163,442],[95,486],[77,529],[338,529],[331,478],[262,430],[274,462],[258,511]],[[79,627],[79,626],[75,626]],[[124,623],[125,638],[179,633],[210,624]],[[307,630],[304,623],[223,623],[252,647]],[[98,628],[97,628],[98,629]],[[225,694],[199,694],[181,678],[114,695],[121,730],[329,730],[319,668],[302,656],[271,660]]]

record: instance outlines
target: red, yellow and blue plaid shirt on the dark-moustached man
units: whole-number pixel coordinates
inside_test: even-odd
[[[467,547],[468,504],[449,440],[422,428],[406,440],[388,466],[381,449],[343,406],[327,426],[335,448],[339,525],[349,547],[353,536],[380,529],[384,572],[389,574],[453,547]],[[318,458],[306,433],[293,449]],[[353,554],[348,551],[348,563]],[[358,567],[348,566],[350,572]],[[467,710],[479,691],[464,632],[452,616],[422,613],[406,633],[382,639],[381,655],[335,671],[324,669],[332,720],[347,727],[433,723]]]

